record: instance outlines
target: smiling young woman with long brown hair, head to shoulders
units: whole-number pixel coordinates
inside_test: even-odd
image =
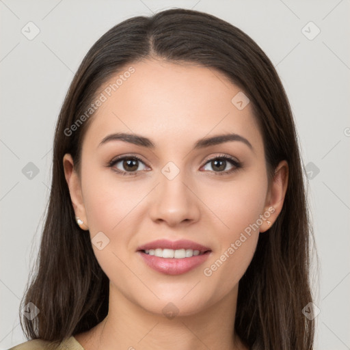
[[[55,131],[13,349],[312,349],[291,107],[243,31],[173,9],[110,29]]]

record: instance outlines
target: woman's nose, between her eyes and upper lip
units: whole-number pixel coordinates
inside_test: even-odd
[[[182,173],[172,180],[161,174],[159,181],[150,198],[151,219],[171,227],[179,224],[190,225],[198,221],[200,200],[196,189],[191,188]]]

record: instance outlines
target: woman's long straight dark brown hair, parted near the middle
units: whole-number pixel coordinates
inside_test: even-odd
[[[234,328],[254,350],[312,349],[314,321],[302,314],[310,301],[312,228],[304,172],[291,107],[273,64],[243,31],[203,12],[172,9],[130,18],[111,28],[88,51],[59,113],[53,146],[51,195],[40,252],[21,308],[40,313],[21,326],[27,338],[58,343],[91,329],[108,312],[109,280],[98,265],[88,234],[82,234],[62,159],[70,153],[79,169],[89,109],[99,89],[140,59],[198,64],[224,73],[250,98],[262,133],[269,180],[285,159],[288,189],[275,224],[260,234],[254,258],[239,282]],[[70,129],[71,130],[71,129]],[[234,330],[232,329],[232,332]]]

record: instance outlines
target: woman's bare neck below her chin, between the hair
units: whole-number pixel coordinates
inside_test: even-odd
[[[110,284],[109,313],[85,349],[246,349],[234,333],[237,288],[196,314],[167,317],[137,306]],[[169,306],[170,310],[174,306]],[[174,308],[175,310],[175,308]],[[179,310],[180,311],[180,310]],[[78,338],[79,340],[79,338]],[[80,340],[79,340],[80,341]]]

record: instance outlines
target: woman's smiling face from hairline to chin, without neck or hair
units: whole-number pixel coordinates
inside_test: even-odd
[[[131,66],[118,89],[104,90],[122,72],[102,87],[72,201],[113,295],[158,314],[170,302],[194,314],[237,292],[259,230],[273,222],[262,135],[250,103],[232,103],[240,89],[220,72],[156,60]],[[239,136],[203,142],[231,134]],[[134,143],[135,135],[147,140]],[[152,243],[159,239],[168,245]]]

